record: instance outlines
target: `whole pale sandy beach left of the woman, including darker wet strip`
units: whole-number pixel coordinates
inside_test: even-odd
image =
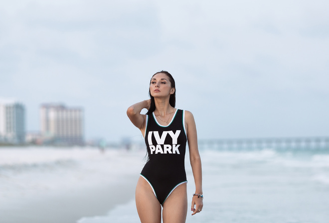
[[[106,215],[134,199],[139,154],[1,149],[0,223],[75,223]]]

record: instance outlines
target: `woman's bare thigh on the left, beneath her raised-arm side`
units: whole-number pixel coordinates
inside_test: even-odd
[[[137,182],[135,198],[141,223],[161,223],[161,205],[143,177]]]

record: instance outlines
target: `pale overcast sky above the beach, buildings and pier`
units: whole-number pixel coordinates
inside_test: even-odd
[[[198,137],[329,135],[328,0],[10,0],[0,98],[85,111],[87,139],[141,139],[127,108],[152,75],[176,81]]]

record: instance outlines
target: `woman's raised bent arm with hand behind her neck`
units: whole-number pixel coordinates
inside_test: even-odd
[[[129,119],[131,120],[131,122],[133,122],[133,124],[136,127],[141,129],[143,134],[144,134],[144,130],[145,130],[144,125],[145,125],[146,115],[141,114],[141,111],[143,109],[149,110],[150,105],[151,105],[151,99],[136,103],[135,105],[132,105],[131,107],[129,107],[127,109],[127,115],[129,117]]]

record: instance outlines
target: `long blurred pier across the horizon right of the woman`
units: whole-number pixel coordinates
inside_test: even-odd
[[[218,150],[329,150],[329,137],[200,139],[198,146]]]

